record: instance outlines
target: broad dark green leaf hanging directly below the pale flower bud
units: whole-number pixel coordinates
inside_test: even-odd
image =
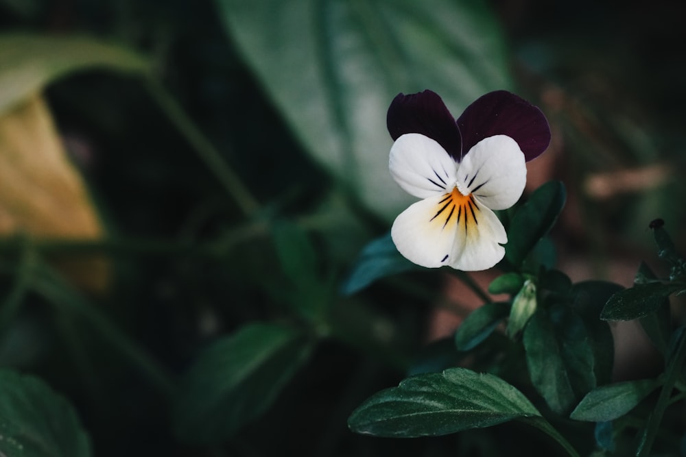
[[[595,388],[589,335],[569,306],[539,308],[524,328],[523,341],[532,383],[554,412],[567,414]]]

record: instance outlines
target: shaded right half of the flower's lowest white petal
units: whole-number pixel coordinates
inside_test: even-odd
[[[469,225],[466,230],[464,248],[453,258],[450,266],[462,271],[480,271],[494,267],[505,256],[501,244],[508,242],[505,228],[495,213],[483,204],[477,205],[477,224]]]

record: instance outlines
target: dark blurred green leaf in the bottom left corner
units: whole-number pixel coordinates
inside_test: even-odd
[[[74,408],[45,382],[0,370],[0,386],[0,455],[91,455],[90,441]]]

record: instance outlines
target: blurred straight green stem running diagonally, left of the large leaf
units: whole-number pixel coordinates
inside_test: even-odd
[[[148,88],[150,94],[165,114],[167,114],[171,123],[176,126],[200,159],[215,174],[243,213],[248,217],[255,214],[260,208],[257,199],[252,196],[250,190],[243,184],[239,176],[228,166],[226,160],[222,158],[222,154],[200,132],[200,129],[196,127],[188,114],[182,110],[178,102],[174,100],[174,97],[171,97],[169,92],[156,79],[148,81]]]

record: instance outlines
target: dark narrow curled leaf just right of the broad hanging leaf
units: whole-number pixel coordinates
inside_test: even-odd
[[[582,281],[571,288],[572,306],[584,321],[593,349],[595,380],[598,384],[611,382],[615,359],[615,343],[607,322],[600,320],[606,301],[622,286],[606,281]]]

